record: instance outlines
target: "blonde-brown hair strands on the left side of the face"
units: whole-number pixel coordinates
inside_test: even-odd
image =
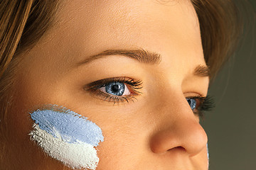
[[[18,54],[31,48],[53,23],[57,0],[0,2],[0,120],[10,103]]]

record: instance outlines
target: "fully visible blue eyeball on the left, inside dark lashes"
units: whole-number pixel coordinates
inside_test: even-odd
[[[127,85],[118,81],[105,84],[105,86],[102,86],[99,90],[114,96],[124,96],[131,94],[131,91],[129,91]]]

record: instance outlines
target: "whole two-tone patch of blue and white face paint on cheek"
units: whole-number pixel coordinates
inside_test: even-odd
[[[95,123],[56,106],[33,111],[31,118],[35,121],[31,140],[50,157],[73,169],[96,169],[99,158],[95,147],[104,137]]]

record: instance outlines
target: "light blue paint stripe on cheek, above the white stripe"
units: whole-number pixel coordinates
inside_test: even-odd
[[[82,115],[65,108],[60,111],[37,110],[31,113],[31,118],[39,128],[46,130],[53,137],[56,137],[55,132],[58,132],[65,142],[76,143],[79,140],[96,147],[104,140],[100,127]]]

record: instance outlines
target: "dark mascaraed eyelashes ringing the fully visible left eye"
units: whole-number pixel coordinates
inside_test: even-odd
[[[117,81],[119,83],[127,85],[129,91],[132,91],[131,94],[129,96],[114,96],[99,90],[101,87],[106,86],[113,81]],[[134,101],[134,99],[137,100],[135,96],[142,94],[142,92],[139,91],[139,89],[142,89],[142,81],[135,81],[134,79],[127,77],[113,77],[110,79],[101,79],[98,81],[94,81],[90,84],[87,84],[84,89],[86,91],[92,92],[93,94],[96,94],[97,96],[100,96],[103,101],[113,102],[114,104],[125,101],[129,103],[129,101]]]

